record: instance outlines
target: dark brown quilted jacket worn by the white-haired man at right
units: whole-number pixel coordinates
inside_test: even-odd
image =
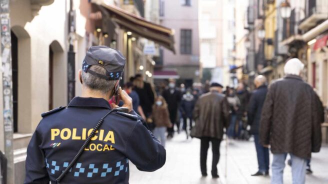
[[[310,158],[321,146],[322,105],[310,85],[286,75],[268,89],[260,120],[260,143],[272,153]]]

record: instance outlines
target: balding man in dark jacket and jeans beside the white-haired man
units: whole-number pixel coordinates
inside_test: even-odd
[[[263,75],[258,75],[254,79],[256,90],[251,94],[247,120],[250,125],[250,133],[254,136],[254,143],[257,155],[258,170],[252,176],[268,175],[269,173],[269,148],[264,147],[259,143],[258,129],[261,118],[261,112],[265,96],[267,93],[266,78]]]

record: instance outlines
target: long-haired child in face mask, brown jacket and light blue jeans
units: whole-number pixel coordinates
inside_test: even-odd
[[[152,106],[152,120],[155,123],[153,135],[158,138],[161,144],[165,147],[166,127],[172,127],[172,123],[169,119],[167,103],[162,96],[157,96],[155,104]]]

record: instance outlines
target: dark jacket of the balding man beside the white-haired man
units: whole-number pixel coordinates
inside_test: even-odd
[[[252,92],[250,97],[248,103],[247,120],[248,124],[250,125],[251,134],[258,134],[259,121],[261,118],[261,112],[266,93],[267,86],[261,85]]]

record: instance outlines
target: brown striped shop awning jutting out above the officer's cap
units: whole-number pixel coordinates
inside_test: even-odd
[[[172,29],[147,21],[119,7],[107,4],[103,0],[91,0],[91,2],[98,4],[102,11],[107,11],[111,20],[121,28],[152,40],[175,53]]]

